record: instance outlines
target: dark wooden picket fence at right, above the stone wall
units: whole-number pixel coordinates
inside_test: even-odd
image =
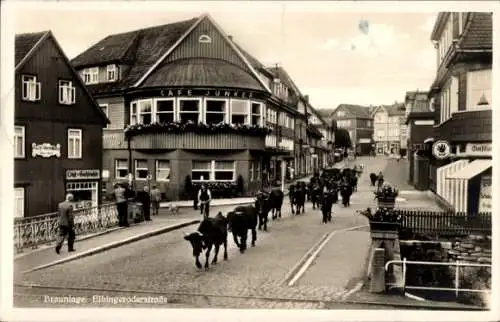
[[[445,211],[395,209],[401,229],[440,236],[491,235],[491,212],[467,214]]]

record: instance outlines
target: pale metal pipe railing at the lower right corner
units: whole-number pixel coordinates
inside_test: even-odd
[[[491,289],[467,289],[460,288],[460,267],[489,267],[490,264],[475,264],[475,263],[461,263],[457,262],[420,262],[420,261],[407,261],[406,258],[403,260],[391,260],[385,263],[385,270],[389,269],[390,265],[402,265],[403,266],[403,285],[398,285],[392,283],[390,286],[402,287],[403,290],[433,290],[433,291],[455,291],[455,296],[458,296],[459,292],[475,292],[475,293],[491,293]],[[429,266],[455,266],[455,282],[454,288],[450,287],[433,287],[433,286],[408,286],[406,285],[406,265],[429,265]]]

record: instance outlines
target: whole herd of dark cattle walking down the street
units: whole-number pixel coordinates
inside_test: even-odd
[[[306,201],[309,200],[313,209],[320,208],[323,215],[322,222],[331,222],[332,206],[337,203],[339,192],[344,207],[348,207],[351,194],[357,190],[358,177],[362,172],[363,165],[343,170],[323,169],[322,174],[315,174],[309,183],[299,181],[291,185],[289,199],[292,214],[303,214]],[[273,189],[270,192],[260,191],[253,205],[237,206],[226,216],[219,212],[213,218],[204,218],[197,231],[184,236],[184,239],[192,246],[196,267],[202,268],[199,256],[204,251],[205,270],[208,270],[208,261],[213,247],[215,254],[212,264],[217,263],[221,245],[224,247],[224,260],[227,259],[228,232],[232,232],[234,243],[241,253],[244,253],[247,248],[248,230],[252,232],[252,246],[255,246],[257,229],[267,231],[269,213],[273,220],[281,218],[284,197],[281,189]]]

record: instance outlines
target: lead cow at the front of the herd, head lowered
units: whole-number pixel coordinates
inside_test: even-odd
[[[224,260],[227,260],[227,224],[228,220],[221,212],[214,218],[205,218],[198,226],[198,230],[185,235],[184,239],[191,243],[193,256],[196,258],[197,268],[201,268],[200,254],[205,250],[205,270],[208,270],[208,260],[212,246],[215,245],[215,254],[212,264],[217,264],[220,245],[224,245]]]

